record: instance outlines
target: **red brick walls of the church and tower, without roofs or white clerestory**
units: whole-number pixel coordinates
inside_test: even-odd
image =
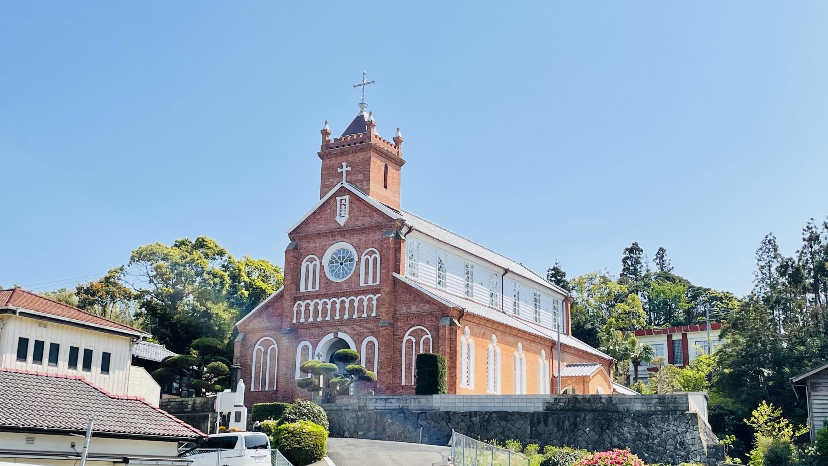
[[[346,174],[348,182],[385,206],[399,208],[401,169],[405,163],[402,160],[402,137],[394,138],[392,144],[378,138],[373,131],[373,121],[367,121],[366,126],[367,134],[334,140],[329,138],[330,131],[323,129],[319,153],[322,161],[320,195],[325,201],[288,233],[290,245],[285,250],[283,289],[237,323],[239,337],[235,342],[235,354],[243,367],[248,405],[309,397],[306,391],[296,387],[296,367],[307,359],[308,352],[311,357],[317,357],[317,352],[330,349],[328,345],[332,342],[347,344],[358,352],[366,348],[365,365],[368,370],[377,372],[378,381],[372,384],[359,382],[360,391],[413,394],[412,362],[414,353],[420,352],[422,347],[422,352],[445,356],[450,393],[486,393],[487,346],[492,334],[497,336],[501,354],[500,393],[514,392],[513,355],[518,344],[526,359],[526,392],[539,393],[542,387],[538,381],[538,359],[545,352],[551,366],[549,373],[555,373],[555,341],[465,313],[462,308],[447,306],[393,276],[394,273],[405,274],[407,226],[399,218],[388,216],[370,200],[363,199],[354,188],[342,184],[342,172],[337,171],[343,162],[346,163],[350,167]],[[349,216],[344,224],[340,224],[335,218],[339,209],[337,197],[346,196],[349,197]],[[325,252],[339,242],[353,246],[356,265],[347,279],[335,282],[325,274],[323,258]],[[363,285],[360,281],[361,257],[370,248],[379,253],[379,283]],[[318,289],[302,291],[302,263],[311,255],[320,262]],[[375,313],[373,301],[368,298],[356,302],[343,300],[366,296],[377,296]],[[337,302],[330,303],[329,308],[328,300]],[[570,303],[571,299],[566,299],[568,325]],[[297,310],[302,306],[304,310]],[[458,378],[460,340],[467,326],[474,340],[473,388],[461,387]],[[374,344],[373,339],[378,344]],[[303,342],[310,343],[310,350]],[[299,347],[301,352],[297,352]],[[258,355],[255,364],[254,352]],[[566,345],[561,347],[561,352],[564,362],[599,361],[611,373],[609,360]],[[373,364],[374,354],[378,356],[376,366]],[[323,358],[328,356],[324,354]],[[586,385],[579,393],[595,393],[596,384],[600,384],[590,380],[583,383]],[[606,381],[601,385],[604,393],[612,393],[610,383]],[[552,391],[556,390],[555,385],[555,381],[551,381]]]

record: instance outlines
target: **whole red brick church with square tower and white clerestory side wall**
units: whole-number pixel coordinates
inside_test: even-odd
[[[453,394],[612,394],[612,358],[570,335],[572,299],[519,262],[402,209],[403,138],[359,114],[321,130],[320,200],[287,231],[284,287],[240,319],[248,403],[308,397],[308,359],[350,347],[361,390],[414,393],[414,357],[448,363]],[[557,336],[561,328],[560,340]]]

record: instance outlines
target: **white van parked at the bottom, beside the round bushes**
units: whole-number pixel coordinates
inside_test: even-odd
[[[262,432],[209,435],[181,457],[192,459],[192,466],[271,466],[270,439]]]

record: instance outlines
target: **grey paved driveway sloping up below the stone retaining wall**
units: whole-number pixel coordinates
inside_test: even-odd
[[[336,466],[436,466],[446,464],[449,447],[383,440],[328,439]]]

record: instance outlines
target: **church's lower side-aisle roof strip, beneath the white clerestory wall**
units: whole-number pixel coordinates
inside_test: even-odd
[[[533,323],[531,321],[519,318],[513,314],[504,313],[500,309],[489,308],[489,306],[478,303],[476,301],[461,298],[460,296],[455,296],[454,294],[450,294],[442,289],[431,288],[423,284],[418,284],[412,279],[409,279],[408,277],[403,276],[401,274],[397,274],[396,272],[394,273],[394,278],[400,280],[404,284],[411,286],[413,289],[416,289],[422,294],[426,294],[431,299],[435,299],[436,301],[444,304],[448,308],[464,309],[467,313],[473,313],[480,317],[489,318],[495,322],[503,323],[504,325],[517,328],[527,333],[532,333],[540,337],[549,338],[553,342],[558,341],[556,331],[553,331],[551,328],[547,328],[539,323]],[[568,347],[580,349],[584,352],[589,352],[590,354],[593,354],[597,357],[601,357],[602,359],[609,359],[610,361],[614,361],[613,357],[609,356],[608,354],[600,352],[594,347],[590,347],[590,345],[586,344],[585,342],[581,342],[578,338],[575,338],[571,335],[567,335],[566,333],[561,333],[561,344],[564,344]]]

